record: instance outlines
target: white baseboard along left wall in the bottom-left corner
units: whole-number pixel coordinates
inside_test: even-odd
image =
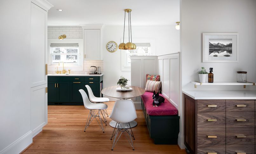
[[[2,151],[0,151],[0,154],[4,153],[20,153],[23,151],[26,147],[28,147],[32,143],[32,131],[30,130],[26,134],[24,134],[22,137],[5,147]]]

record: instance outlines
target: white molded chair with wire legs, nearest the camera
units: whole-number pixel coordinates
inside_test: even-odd
[[[114,132],[112,133],[112,137],[111,137],[111,139],[114,137],[114,142],[113,142],[111,150],[113,150],[114,146],[116,145],[118,139],[120,138],[120,136],[122,135],[123,132],[128,133],[130,140],[128,139],[126,134],[125,134],[125,136],[128,139],[130,145],[132,146],[132,150],[134,150],[134,146],[133,146],[131,137],[133,137],[133,139],[135,139],[135,138],[133,136],[133,132],[131,130],[131,126],[129,123],[137,118],[137,114],[136,114],[136,110],[135,110],[133,102],[131,100],[117,100],[112,109],[110,118],[117,122],[116,128],[114,128],[114,131],[115,131],[115,129],[117,129],[117,130],[116,130],[115,134],[114,134]],[[130,132],[130,130],[131,130],[131,132]],[[121,133],[120,133],[119,137],[117,138],[118,132],[121,132]]]

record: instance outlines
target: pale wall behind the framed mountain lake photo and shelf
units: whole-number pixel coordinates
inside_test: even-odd
[[[213,67],[214,81],[236,81],[236,71],[247,71],[256,82],[256,1],[181,1],[182,86],[194,89],[198,71]],[[202,33],[239,33],[238,63],[202,63]],[[197,86],[196,90],[242,89],[243,86]],[[255,89],[246,86],[246,90]]]

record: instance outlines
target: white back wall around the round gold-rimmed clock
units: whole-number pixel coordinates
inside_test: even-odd
[[[104,26],[103,28],[104,87],[117,85],[117,80],[121,75],[131,80],[131,71],[121,71],[121,51],[118,49],[111,53],[105,47],[111,40],[117,42],[118,45],[121,43],[123,28],[123,26]],[[125,33],[125,36],[128,34]],[[156,55],[179,51],[179,30],[175,29],[175,25],[132,26],[132,38],[154,38]]]

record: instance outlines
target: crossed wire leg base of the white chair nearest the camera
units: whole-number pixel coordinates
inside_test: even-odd
[[[112,138],[114,137],[114,141],[113,141],[113,145],[112,145],[112,149],[111,149],[111,150],[113,150],[114,146],[117,144],[117,141],[118,141],[118,139],[120,138],[120,136],[122,135],[123,132],[127,132],[127,133],[128,133],[129,139],[128,139],[126,133],[124,133],[124,134],[125,134],[125,137],[127,138],[128,142],[130,143],[130,145],[131,145],[131,147],[132,147],[132,150],[134,150],[134,146],[133,146],[133,142],[132,142],[132,139],[131,139],[131,138],[133,138],[133,139],[135,139],[135,138],[134,138],[133,132],[132,132],[132,130],[131,130],[130,123],[126,123],[126,124],[127,124],[127,125],[126,125],[125,127],[122,127],[122,126],[120,125],[120,122],[117,122],[117,123],[116,123],[116,126],[115,126],[114,131],[113,131],[112,136],[111,136],[111,140],[112,140]],[[117,127],[117,128],[116,128],[116,127]],[[116,132],[115,132],[115,129],[117,129]],[[130,130],[131,130],[131,131],[130,131]],[[115,132],[115,134],[114,134],[114,132]],[[121,132],[119,136],[118,136],[118,132]],[[118,136],[118,138],[117,138],[117,136]]]

